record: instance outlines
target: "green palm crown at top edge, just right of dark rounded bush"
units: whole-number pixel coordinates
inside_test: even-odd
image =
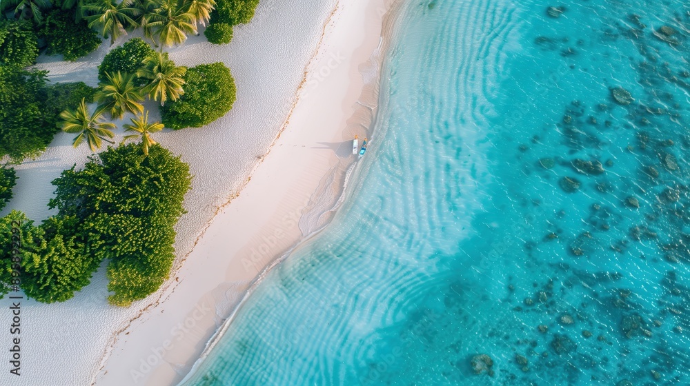
[[[137,8],[132,8],[133,0],[93,0],[84,4],[83,10],[92,13],[86,17],[89,28],[97,28],[101,36],[110,37],[110,44],[115,43],[115,39],[126,34],[129,27],[135,28],[137,22],[133,19],[141,12]]]

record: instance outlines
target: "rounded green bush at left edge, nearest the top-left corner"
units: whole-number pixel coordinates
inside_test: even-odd
[[[0,21],[0,64],[26,67],[39,56],[36,33],[28,21]]]

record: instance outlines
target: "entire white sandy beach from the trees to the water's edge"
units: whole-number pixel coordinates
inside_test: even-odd
[[[350,141],[366,136],[373,116],[375,85],[365,85],[360,71],[369,81],[378,74],[367,62],[380,45],[385,3],[263,0],[230,45],[211,45],[201,35],[170,50],[179,65],[223,61],[238,88],[233,111],[219,121],[155,136],[182,154],[195,176],[188,214],[177,225],[177,273],[127,309],[107,304],[103,270],[66,303],[24,302],[22,376],[0,373],[0,384],[181,380],[257,274],[328,219],[321,214],[335,203],[342,171],[354,161]],[[53,81],[96,85],[108,49],[106,43],[77,63],[41,58],[39,68]],[[58,134],[39,159],[15,167],[14,199],[0,215],[50,215],[50,181],[88,155],[71,147],[71,137]]]

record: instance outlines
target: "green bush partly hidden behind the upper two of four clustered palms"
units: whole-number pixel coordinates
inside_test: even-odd
[[[121,47],[114,48],[103,58],[103,63],[98,66],[98,79],[101,82],[107,81],[106,72],[115,74],[136,74],[144,68],[146,59],[153,57],[155,51],[145,41],[134,38]]]

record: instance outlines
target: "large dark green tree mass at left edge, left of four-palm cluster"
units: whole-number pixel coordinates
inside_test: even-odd
[[[57,132],[46,106],[46,72],[0,66],[0,156],[36,156]]]

